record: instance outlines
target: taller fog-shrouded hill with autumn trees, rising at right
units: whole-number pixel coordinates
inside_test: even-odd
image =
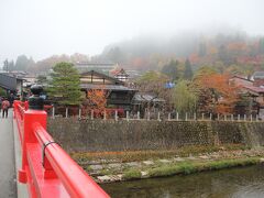
[[[264,64],[264,37],[251,36],[242,31],[224,30],[213,33],[185,32],[170,36],[138,36],[105,47],[101,59],[124,67],[158,69],[170,59],[189,58],[194,67]]]

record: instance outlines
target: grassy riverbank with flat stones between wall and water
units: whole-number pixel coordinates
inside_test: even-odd
[[[164,177],[264,162],[264,148],[244,145],[188,146],[177,151],[74,153],[98,183]]]

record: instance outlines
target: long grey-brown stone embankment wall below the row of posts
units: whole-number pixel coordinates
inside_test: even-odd
[[[264,145],[264,122],[113,121],[55,118],[48,132],[69,152],[173,150],[187,145]]]

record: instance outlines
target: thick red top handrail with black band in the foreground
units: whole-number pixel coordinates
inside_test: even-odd
[[[40,123],[35,123],[34,131],[41,145],[51,143],[51,145],[45,147],[45,153],[43,153],[45,154],[43,162],[44,166],[46,166],[45,158],[47,158],[72,197],[86,197],[87,188],[89,188],[88,191],[90,193],[100,191],[101,195],[105,195],[105,191],[102,191],[90,177],[87,177],[85,170],[80,168],[56,142],[54,142],[52,136]],[[89,184],[89,186],[85,184]],[[95,194],[95,196],[100,197],[99,194]]]

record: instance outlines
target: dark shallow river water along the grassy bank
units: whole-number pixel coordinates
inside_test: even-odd
[[[264,166],[103,184],[112,198],[264,198]]]

